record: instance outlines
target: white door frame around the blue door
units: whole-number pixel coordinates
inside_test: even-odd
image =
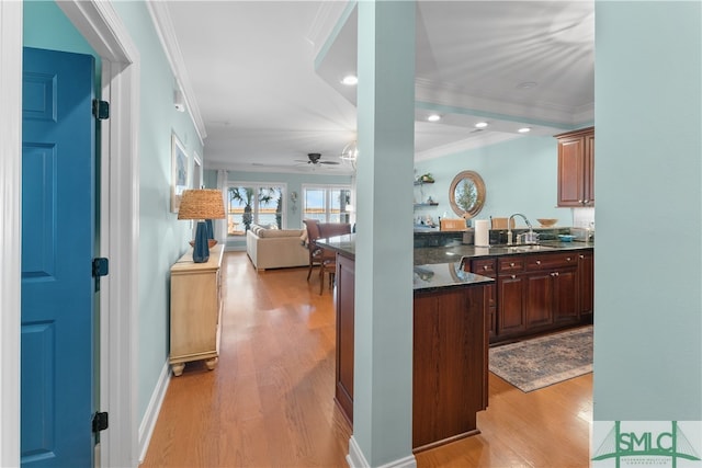
[[[100,255],[110,274],[100,292],[100,409],[110,412],[95,465],[138,465],[138,102],[139,54],[109,2],[57,2],[102,59]],[[0,466],[20,465],[20,279],[22,3],[0,1]],[[112,157],[111,157],[112,156]],[[7,201],[7,202],[5,202]]]

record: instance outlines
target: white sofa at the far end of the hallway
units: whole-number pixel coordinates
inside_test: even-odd
[[[257,271],[309,265],[305,229],[269,229],[251,225],[246,233],[246,253]]]

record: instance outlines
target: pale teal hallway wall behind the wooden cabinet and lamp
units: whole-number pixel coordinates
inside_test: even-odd
[[[193,170],[203,146],[188,113],[173,105],[174,78],[145,2],[113,2],[139,50],[139,418],[147,409],[169,352],[170,267],[189,248],[192,222],[170,210],[171,134]]]

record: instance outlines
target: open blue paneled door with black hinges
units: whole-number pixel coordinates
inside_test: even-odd
[[[24,49],[21,452],[93,464],[93,58]]]

